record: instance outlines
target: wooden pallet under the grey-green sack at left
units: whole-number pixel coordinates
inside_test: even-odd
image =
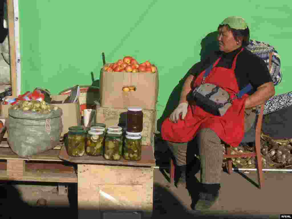
[[[60,150],[52,149],[21,158],[6,141],[0,145],[0,180],[77,183],[77,167],[59,159]]]

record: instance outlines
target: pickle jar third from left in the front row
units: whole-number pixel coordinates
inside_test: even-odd
[[[122,157],[123,136],[121,131],[108,130],[105,137],[104,158],[119,160]]]

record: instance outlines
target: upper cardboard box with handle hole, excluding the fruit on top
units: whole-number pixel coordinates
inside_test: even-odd
[[[135,86],[135,91],[123,92],[124,86]],[[159,89],[158,72],[100,71],[100,105],[109,108],[138,106],[156,109]]]

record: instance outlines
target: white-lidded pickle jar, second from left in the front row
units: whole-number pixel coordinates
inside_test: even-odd
[[[104,132],[89,130],[86,140],[86,154],[89,156],[101,156],[103,154]]]

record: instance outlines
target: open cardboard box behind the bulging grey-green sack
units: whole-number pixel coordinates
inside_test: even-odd
[[[69,97],[69,95],[53,95],[51,96],[52,101],[62,101]],[[60,104],[53,104],[60,107],[63,111],[62,115],[62,123],[63,123],[63,131],[61,136],[68,132],[68,128],[70,126],[77,126],[81,124],[81,115],[80,115],[80,104],[79,101],[76,103],[60,103]],[[0,104],[1,109],[1,117],[7,118],[8,117],[8,109],[11,105],[3,105],[2,102]],[[4,138],[7,138],[7,132],[4,135]]]

